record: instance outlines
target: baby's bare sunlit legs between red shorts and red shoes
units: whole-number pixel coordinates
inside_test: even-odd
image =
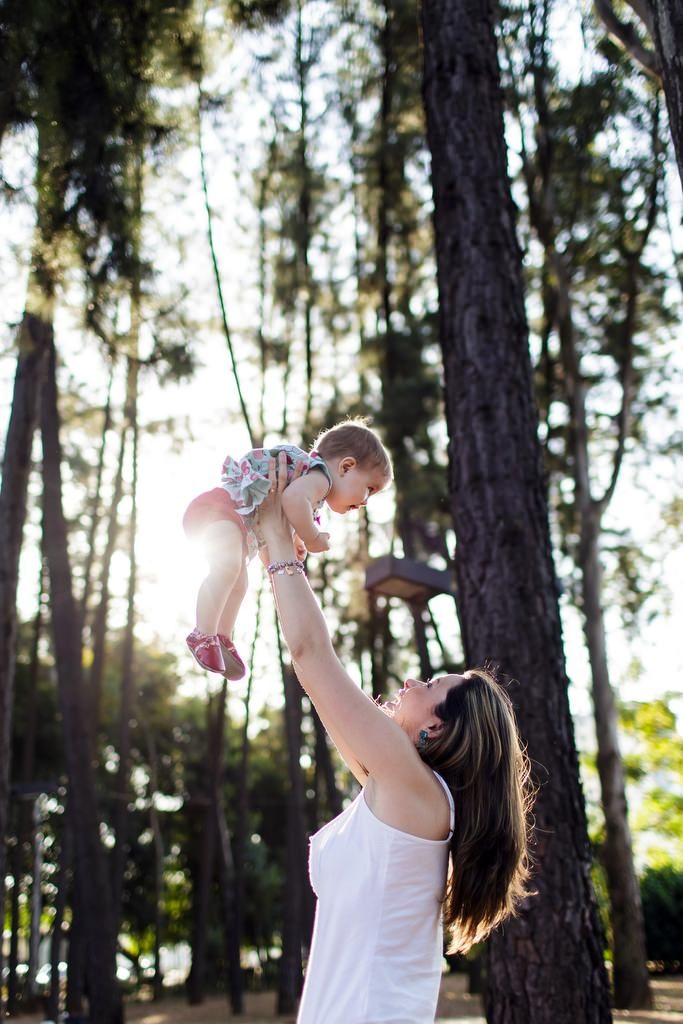
[[[245,595],[242,589],[242,578],[246,575],[243,532],[236,522],[221,519],[205,528],[203,542],[209,574],[197,595],[197,628],[213,636],[218,632],[223,608],[233,601],[233,591],[240,595],[236,616]],[[238,582],[240,587],[236,590]]]

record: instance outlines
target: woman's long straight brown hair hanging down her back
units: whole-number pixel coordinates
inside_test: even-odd
[[[455,799],[443,923],[450,951],[466,952],[527,895],[529,766],[512,701],[490,672],[466,672],[434,711],[443,727],[420,755]]]

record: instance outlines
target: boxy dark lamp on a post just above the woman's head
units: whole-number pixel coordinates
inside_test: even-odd
[[[372,601],[384,597],[400,597],[411,608],[415,623],[415,636],[420,657],[420,672],[427,678],[432,667],[427,649],[423,612],[430,598],[437,594],[455,597],[451,574],[445,569],[435,569],[412,558],[383,555],[373,559],[366,569],[366,590]]]

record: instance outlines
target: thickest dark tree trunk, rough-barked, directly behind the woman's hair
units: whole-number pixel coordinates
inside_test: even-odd
[[[469,665],[510,694],[540,783],[532,888],[492,936],[490,1024],[611,1019],[567,700],[506,168],[493,4],[424,0],[456,572]]]

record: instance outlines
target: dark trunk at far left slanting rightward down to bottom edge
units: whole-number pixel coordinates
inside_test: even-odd
[[[61,506],[61,446],[56,355],[50,346],[43,393],[43,525],[50,579],[50,610],[65,733],[69,799],[75,826],[75,884],[80,889],[86,937],[86,979],[91,1024],[121,1024],[116,980],[117,939],[112,894],[99,838],[92,752],[81,666],[80,614],[74,600],[67,523]]]

